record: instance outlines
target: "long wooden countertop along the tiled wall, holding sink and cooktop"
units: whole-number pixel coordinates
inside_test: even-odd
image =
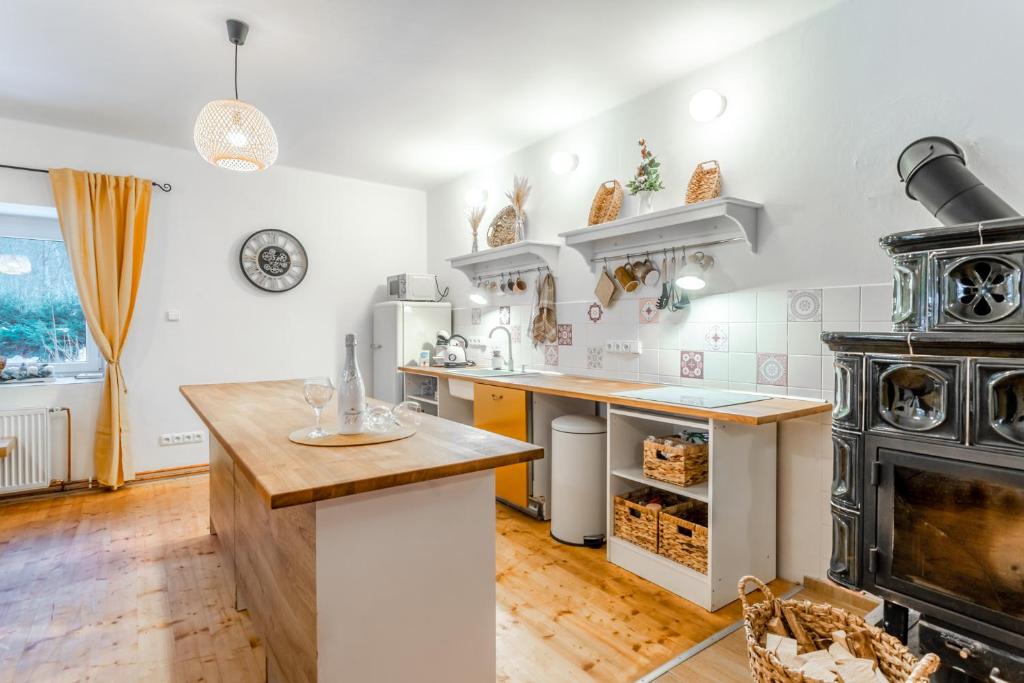
[[[627,382],[622,380],[605,380],[577,375],[520,375],[518,377],[468,377],[453,373],[444,368],[421,368],[407,366],[399,368],[403,373],[412,375],[428,375],[444,379],[466,380],[477,384],[524,389],[536,393],[546,393],[569,398],[584,398],[611,405],[625,405],[645,411],[656,411],[686,418],[702,418],[721,420],[723,422],[738,422],[745,425],[764,425],[772,422],[793,420],[808,415],[827,413],[831,404],[821,401],[801,400],[799,398],[767,398],[753,403],[724,405],[722,408],[697,408],[693,405],[676,405],[659,403],[653,400],[616,396],[618,391],[635,389],[652,389],[659,384],[643,382]]]

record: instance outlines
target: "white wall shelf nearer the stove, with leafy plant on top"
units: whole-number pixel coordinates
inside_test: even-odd
[[[756,202],[722,197],[581,227],[558,237],[587,259],[732,239],[742,240],[751,253],[756,253],[761,208]]]

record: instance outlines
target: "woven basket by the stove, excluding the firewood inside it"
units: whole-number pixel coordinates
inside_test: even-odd
[[[750,604],[746,584],[757,585],[765,596],[763,602]],[[743,631],[746,634],[746,659],[751,673],[758,683],[821,683],[785,667],[773,653],[766,650],[761,641],[765,638],[768,622],[776,611],[785,606],[793,610],[800,625],[808,634],[831,640],[835,631],[852,633],[866,629],[879,669],[891,683],[925,683],[939,668],[939,657],[926,654],[920,661],[910,654],[903,643],[878,627],[869,626],[856,614],[828,604],[813,603],[809,600],[779,600],[771,589],[755,577],[739,580],[739,601],[743,605]]]

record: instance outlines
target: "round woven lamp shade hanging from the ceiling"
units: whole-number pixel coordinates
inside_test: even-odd
[[[196,148],[214,166],[262,171],[278,160],[278,135],[270,121],[241,99],[215,99],[196,119]]]

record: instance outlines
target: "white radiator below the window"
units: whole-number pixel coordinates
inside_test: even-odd
[[[50,417],[45,408],[0,411],[0,436],[16,436],[14,452],[0,458],[0,494],[50,485]]]

